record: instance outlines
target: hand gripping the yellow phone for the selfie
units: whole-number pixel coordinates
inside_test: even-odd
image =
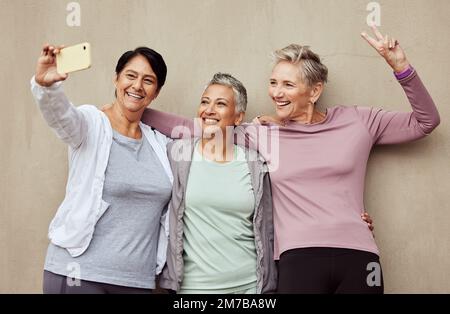
[[[56,71],[56,55],[64,46],[51,46],[49,44],[42,47],[41,56],[38,59],[36,67],[36,83],[41,86],[49,87],[59,81],[67,79],[66,73],[60,74]]]

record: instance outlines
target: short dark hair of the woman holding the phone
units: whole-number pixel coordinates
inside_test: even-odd
[[[164,86],[164,83],[166,82],[167,66],[164,62],[163,57],[159,53],[148,47],[138,47],[134,50],[125,52],[120,57],[119,61],[117,61],[117,76],[119,76],[127,63],[136,56],[143,56],[145,59],[147,59],[148,63],[150,63],[153,72],[155,72],[156,74],[156,79],[158,81],[158,91],[161,90],[161,88]]]

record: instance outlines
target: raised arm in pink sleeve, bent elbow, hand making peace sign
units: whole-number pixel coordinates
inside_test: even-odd
[[[412,112],[390,112],[373,108],[357,108],[368,126],[375,144],[396,144],[416,140],[430,134],[440,123],[439,113],[416,71],[411,67],[397,40],[383,36],[374,26],[376,39],[361,36],[386,60],[403,87]]]

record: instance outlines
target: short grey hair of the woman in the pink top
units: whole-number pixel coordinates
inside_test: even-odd
[[[328,80],[328,68],[321,62],[318,54],[309,46],[291,44],[273,53],[274,63],[288,61],[299,65],[301,79],[309,86],[317,83],[326,83]]]

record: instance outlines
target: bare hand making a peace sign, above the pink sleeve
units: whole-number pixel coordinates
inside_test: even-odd
[[[366,32],[361,33],[361,36],[386,60],[396,73],[406,70],[409,67],[409,62],[398,41],[389,37],[389,35],[383,37],[376,26],[372,26],[372,30],[377,39],[367,35]]]

